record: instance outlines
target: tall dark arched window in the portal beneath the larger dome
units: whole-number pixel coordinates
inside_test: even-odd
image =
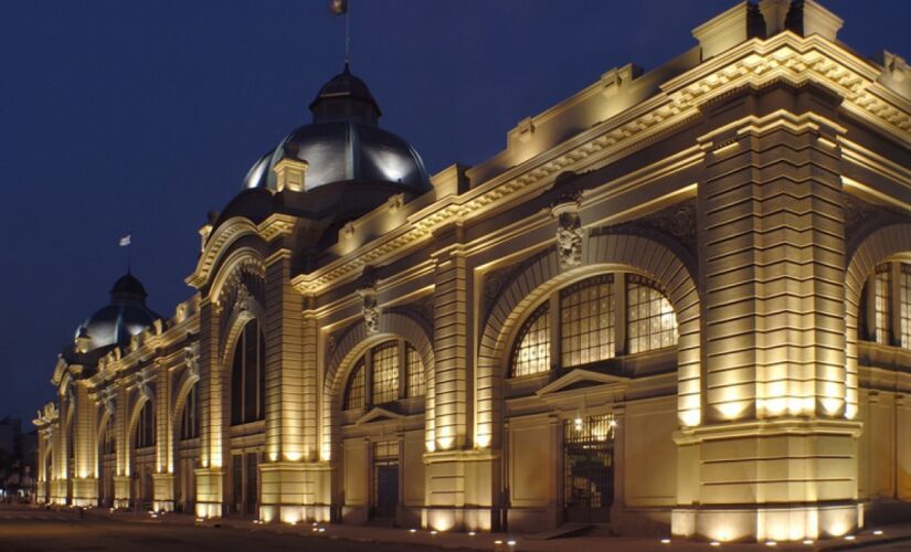
[[[266,347],[258,320],[241,330],[231,365],[231,424],[248,424],[266,415]]]

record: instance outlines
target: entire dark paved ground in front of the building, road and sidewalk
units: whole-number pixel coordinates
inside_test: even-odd
[[[239,546],[239,543],[243,546]],[[263,526],[250,519],[226,518],[197,522],[190,516],[112,513],[88,510],[84,516],[71,509],[0,507],[0,552],[43,551],[170,551],[234,552],[254,550],[403,551],[441,549],[486,551],[595,552],[595,551],[711,551],[707,542],[660,538],[574,537],[534,540],[528,535],[436,533],[415,529],[329,524]],[[777,543],[776,550],[911,550],[911,524],[883,528],[882,534],[867,530],[852,541],[833,539],[809,544]],[[760,544],[722,544],[723,550],[770,550]]]

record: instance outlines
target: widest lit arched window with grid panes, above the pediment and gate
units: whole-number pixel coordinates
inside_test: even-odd
[[[552,358],[571,369],[675,347],[677,339],[677,315],[657,284],[635,274],[598,275],[554,291],[529,315],[513,344],[510,375],[547,372]]]

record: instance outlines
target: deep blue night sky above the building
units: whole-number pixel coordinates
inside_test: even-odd
[[[434,173],[614,66],[695,45],[733,0],[351,0],[352,72]],[[911,2],[824,0],[857,52],[911,59]],[[328,0],[0,6],[0,416],[31,420],[126,268],[152,309],[192,295],[197,231],[343,61]]]

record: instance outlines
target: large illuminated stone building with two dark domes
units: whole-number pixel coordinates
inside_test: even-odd
[[[911,506],[911,68],[814,0],[741,2],[665,65],[428,176],[347,68],[53,373],[53,503],[841,535]],[[239,179],[240,180],[240,179]]]

